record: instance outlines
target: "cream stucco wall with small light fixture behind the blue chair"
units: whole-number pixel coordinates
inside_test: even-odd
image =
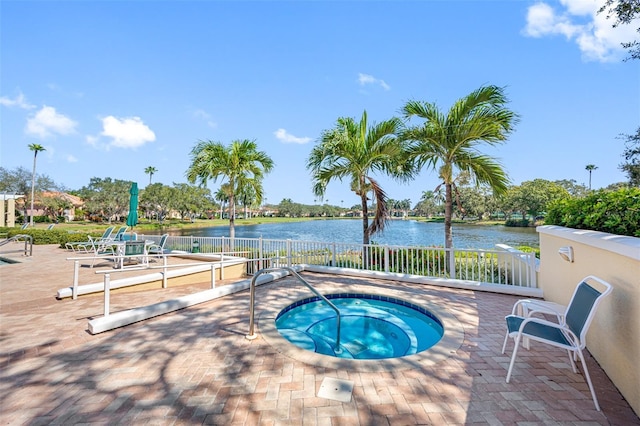
[[[567,304],[587,275],[613,286],[596,312],[587,348],[640,414],[640,238],[561,226],[540,226],[537,231],[538,285],[546,300]],[[573,262],[558,254],[561,247],[573,248]]]

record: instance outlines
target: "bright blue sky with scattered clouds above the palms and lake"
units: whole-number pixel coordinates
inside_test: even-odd
[[[0,3],[0,165],[69,189],[92,177],[186,182],[198,140],[255,140],[275,162],[268,203],[312,204],[305,164],[336,119],[381,121],[404,102],[448,110],[481,85],[521,116],[487,148],[512,183],[625,180],[621,133],[640,125],[640,61],[623,62],[599,3],[563,1],[12,1]],[[438,185],[380,177],[416,203]],[[218,183],[209,187],[215,191]],[[352,206],[348,182],[330,204]]]

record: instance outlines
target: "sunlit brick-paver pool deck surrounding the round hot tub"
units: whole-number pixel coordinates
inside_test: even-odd
[[[260,332],[245,339],[248,291],[91,335],[102,295],[55,298],[72,283],[69,256],[35,246],[32,258],[0,266],[2,424],[640,425],[588,353],[601,412],[559,349],[519,351],[505,383],[513,343],[501,354],[504,316],[515,296],[303,273],[321,292],[368,288],[421,300],[463,331],[448,357],[366,371],[318,365]],[[81,268],[81,283],[100,280]],[[114,293],[112,312],[206,288]],[[265,321],[269,309],[308,294],[291,278],[260,286],[256,312]],[[348,402],[318,396],[325,378],[353,386]]]

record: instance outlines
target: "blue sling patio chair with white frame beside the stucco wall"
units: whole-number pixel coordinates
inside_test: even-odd
[[[602,287],[604,291],[597,290],[593,284],[596,284],[596,287]],[[586,346],[587,330],[591,325],[596,308],[611,291],[611,284],[600,278],[591,275],[584,278],[576,287],[564,315],[557,315],[558,323],[530,315],[526,317],[515,315],[515,312],[520,309],[520,302],[516,302],[513,307],[513,313],[505,318],[507,321],[507,334],[504,337],[502,353],[505,352],[508,338],[515,339],[513,355],[511,355],[511,362],[507,371],[507,383],[511,378],[521,339],[529,339],[566,349],[574,373],[578,372],[574,359],[580,358],[584,369],[584,377],[589,384],[589,390],[593,397],[593,403],[596,406],[596,410],[600,411],[600,405],[598,405],[598,399],[593,389],[593,383],[591,383],[591,377],[589,376],[582,350]],[[531,314],[535,312],[535,310],[530,311]]]

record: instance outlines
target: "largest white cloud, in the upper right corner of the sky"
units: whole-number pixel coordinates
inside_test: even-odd
[[[575,42],[589,61],[609,62],[625,56],[620,44],[634,40],[638,19],[613,28],[614,21],[598,13],[596,0],[560,0],[560,4],[563,10],[559,11],[544,2],[530,6],[523,33],[530,37],[564,36]]]

